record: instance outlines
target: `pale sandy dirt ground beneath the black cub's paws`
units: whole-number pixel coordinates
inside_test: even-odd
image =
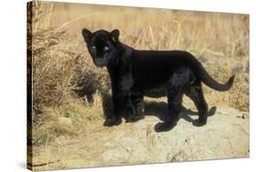
[[[198,127],[192,125],[198,117],[193,111],[184,107],[178,125],[162,133],[155,132],[154,126],[167,112],[164,102],[159,102],[154,110],[146,109],[145,119],[136,123],[123,121],[119,126],[106,127],[103,121],[98,121],[85,127],[77,137],[57,137],[50,145],[34,146],[33,169],[249,157],[247,112],[229,106],[211,107],[208,124]],[[62,117],[59,121],[72,125],[68,118]]]

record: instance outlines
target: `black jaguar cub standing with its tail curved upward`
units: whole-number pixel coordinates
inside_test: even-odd
[[[201,82],[218,91],[227,91],[235,76],[222,85],[215,81],[186,51],[136,50],[119,42],[118,29],[94,33],[83,29],[82,35],[96,66],[107,66],[112,84],[114,114],[104,125],[114,126],[122,121],[135,122],[144,118],[143,96],[167,96],[169,116],[155,126],[156,131],[168,131],[175,126],[181,112],[182,96],[189,96],[199,111],[195,125],[207,122],[208,105]]]

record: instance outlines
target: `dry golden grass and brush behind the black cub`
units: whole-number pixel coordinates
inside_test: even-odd
[[[210,105],[249,110],[248,15],[39,2],[31,7],[34,145],[76,136],[91,121],[104,117],[102,95],[109,92],[108,74],[93,66],[81,36],[84,27],[118,28],[120,40],[138,49],[187,50],[220,82],[236,73],[229,92],[205,86],[206,99]],[[74,90],[97,90],[95,102],[88,104]],[[60,117],[72,125],[60,125]]]

